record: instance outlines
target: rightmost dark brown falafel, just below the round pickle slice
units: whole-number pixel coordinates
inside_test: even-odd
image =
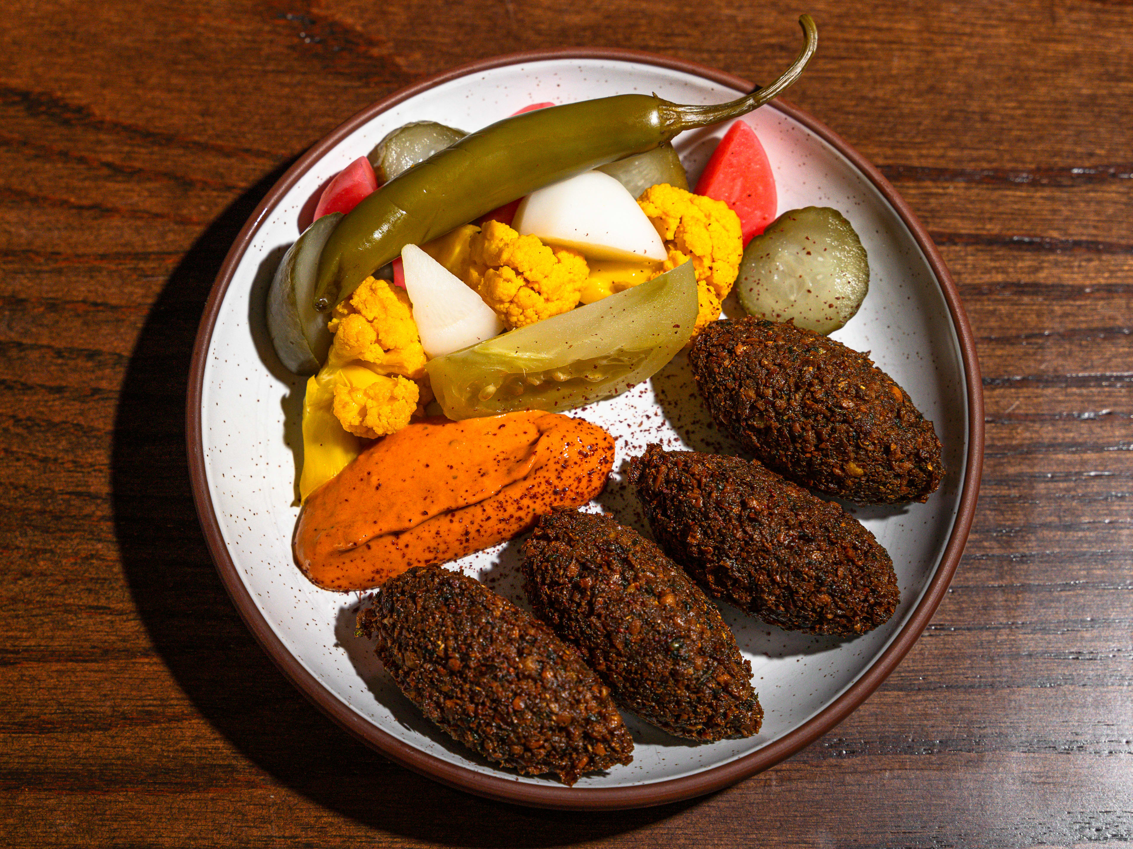
[[[714,321],[689,362],[716,423],[798,483],[861,504],[925,501],[940,486],[932,422],[841,342],[790,323]]]

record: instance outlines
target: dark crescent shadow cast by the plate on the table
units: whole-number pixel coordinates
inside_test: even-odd
[[[288,163],[290,164],[290,163]],[[631,812],[492,803],[401,769],[306,702],[244,626],[197,523],[185,398],[197,323],[232,241],[286,166],[236,200],[185,255],[130,357],[111,461],[114,530],[138,614],[178,685],[275,781],[367,825],[437,843],[542,847],[632,831],[695,801]],[[198,789],[230,787],[222,758],[182,761]]]

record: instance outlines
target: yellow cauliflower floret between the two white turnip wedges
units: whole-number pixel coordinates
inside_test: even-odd
[[[569,248],[552,249],[488,221],[472,235],[465,282],[509,327],[525,327],[578,306],[589,269]]]

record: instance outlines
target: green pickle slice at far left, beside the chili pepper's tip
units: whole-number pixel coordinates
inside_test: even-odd
[[[283,255],[267,290],[267,333],[283,368],[296,375],[318,371],[331,346],[329,316],[314,307],[315,274],[318,255],[341,220],[342,213],[331,213],[304,230]]]

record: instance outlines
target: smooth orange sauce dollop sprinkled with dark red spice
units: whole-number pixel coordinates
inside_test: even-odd
[[[586,504],[613,462],[610,434],[568,415],[414,422],[310,494],[296,561],[329,590],[381,586],[517,537],[553,507]]]

